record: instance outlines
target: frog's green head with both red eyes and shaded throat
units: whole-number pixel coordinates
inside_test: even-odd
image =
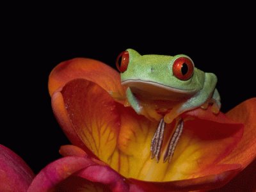
[[[204,72],[195,68],[191,58],[142,55],[127,49],[116,59],[121,83],[133,93],[150,95],[154,99],[177,100],[188,98],[202,89]]]

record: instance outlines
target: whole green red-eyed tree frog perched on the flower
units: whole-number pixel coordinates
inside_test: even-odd
[[[120,71],[121,84],[126,87],[127,106],[138,115],[157,122],[150,145],[151,158],[156,158],[157,163],[166,124],[176,122],[164,153],[164,163],[171,161],[182,135],[182,113],[196,108],[207,109],[209,105],[212,113],[220,111],[216,75],[196,68],[186,54],[141,55],[134,49],[126,49],[116,58],[116,67]]]

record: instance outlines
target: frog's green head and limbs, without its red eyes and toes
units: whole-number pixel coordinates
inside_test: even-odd
[[[173,118],[184,111],[199,108],[212,99],[220,109],[220,95],[215,88],[217,77],[214,74],[194,68],[193,76],[186,81],[173,75],[173,61],[180,56],[188,56],[141,56],[133,49],[126,51],[129,52],[129,65],[127,70],[120,74],[121,82],[129,87],[126,92],[127,99],[138,114],[141,114],[141,105],[135,95],[152,100],[180,101],[179,106],[172,111],[175,113]]]

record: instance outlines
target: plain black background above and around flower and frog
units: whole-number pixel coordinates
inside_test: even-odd
[[[58,149],[69,141],[52,114],[47,81],[58,63],[76,57],[115,67],[116,56],[127,48],[141,54],[183,53],[197,68],[218,76],[222,111],[255,97],[252,6],[200,6],[78,10],[33,5],[29,11],[11,6],[1,27],[0,143],[35,173],[60,157]]]

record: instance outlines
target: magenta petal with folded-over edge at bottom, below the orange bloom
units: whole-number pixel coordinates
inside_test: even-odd
[[[29,186],[32,191],[128,191],[124,177],[95,159],[68,156],[48,164]]]

